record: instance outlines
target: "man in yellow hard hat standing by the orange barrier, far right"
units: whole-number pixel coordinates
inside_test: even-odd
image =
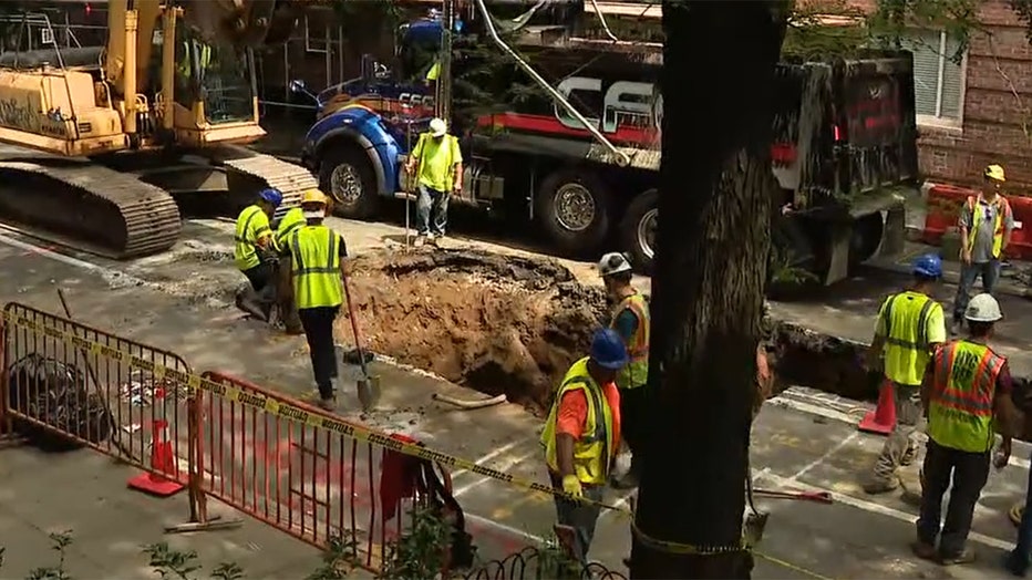
[[[1000,193],[1007,182],[1003,167],[990,165],[982,173],[984,187],[970,196],[960,210],[960,281],[953,300],[951,332],[960,332],[961,317],[968,308],[971,287],[981,277],[982,290],[990,294],[1000,279],[1000,257],[1011,241],[1014,215]]]

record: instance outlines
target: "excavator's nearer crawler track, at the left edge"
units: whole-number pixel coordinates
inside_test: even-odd
[[[90,160],[0,158],[0,215],[62,246],[125,260],[167,250],[179,238],[172,195]]]

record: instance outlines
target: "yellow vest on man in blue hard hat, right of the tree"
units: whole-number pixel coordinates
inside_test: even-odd
[[[920,385],[931,356],[927,341],[932,309],[942,307],[927,296],[906,291],[888,297],[881,307],[885,329],[885,376],[901,385]]]

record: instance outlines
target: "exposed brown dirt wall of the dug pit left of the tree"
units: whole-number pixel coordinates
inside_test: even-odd
[[[606,319],[601,288],[548,259],[380,252],[355,258],[351,280],[373,352],[536,412]],[[350,342],[343,317],[338,336]]]

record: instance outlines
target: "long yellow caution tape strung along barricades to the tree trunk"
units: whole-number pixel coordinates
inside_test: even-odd
[[[204,391],[210,393],[214,396],[226,398],[241,405],[269,413],[271,415],[278,415],[288,420],[291,420],[297,423],[301,423],[311,427],[327,429],[345,437],[351,437],[361,442],[371,443],[373,445],[379,445],[381,447],[391,449],[393,452],[401,453],[403,455],[409,455],[412,457],[419,457],[421,459],[427,459],[431,462],[436,462],[441,465],[446,465],[452,469],[464,469],[484,477],[489,477],[492,479],[497,479],[499,481],[505,481],[514,487],[523,488],[535,494],[545,495],[548,497],[563,497],[571,501],[581,501],[589,505],[597,505],[603,509],[616,511],[621,516],[629,518],[632,522],[632,531],[634,536],[641,540],[647,546],[652,547],[653,549],[680,553],[680,555],[698,555],[698,556],[712,556],[719,553],[729,553],[737,552],[743,550],[752,549],[746,542],[741,542],[732,546],[692,546],[688,543],[679,543],[659,540],[651,538],[643,534],[637,526],[633,526],[634,514],[629,509],[620,506],[615,506],[603,501],[594,501],[588,498],[575,498],[574,496],[566,494],[560,490],[556,490],[550,485],[539,484],[537,481],[532,481],[529,479],[524,479],[516,477],[512,474],[499,472],[497,469],[492,469],[491,467],[485,467],[483,465],[477,465],[468,459],[463,459],[461,457],[455,457],[454,455],[448,455],[446,453],[433,450],[421,445],[415,445],[412,443],[405,443],[403,441],[395,439],[390,435],[384,433],[379,433],[370,429],[363,425],[357,425],[354,423],[349,423],[330,416],[328,414],[309,411],[307,408],[291,405],[289,403],[283,403],[275,398],[269,398],[262,394],[256,394],[247,392],[242,389],[231,386],[225,383],[219,383],[217,381],[211,381],[205,379],[200,375],[186,373],[183,371],[177,371],[175,369],[169,369],[162,364],[148,361],[142,356],[133,354],[127,351],[121,351],[118,349],[109,346],[106,344],[101,344],[99,342],[76,336],[71,332],[64,332],[60,329],[53,327],[48,327],[39,322],[33,321],[28,317],[21,317],[12,312],[4,311],[2,318],[12,325],[21,327],[33,332],[38,332],[45,336],[53,338],[55,340],[63,341],[76,349],[83,350],[96,354],[97,356],[103,356],[112,361],[117,361],[125,364],[126,366],[135,370],[146,371],[153,373],[155,379],[162,380],[167,379],[175,381],[179,384],[187,386],[188,393],[190,396],[194,396],[198,391]],[[755,551],[755,550],[753,550]],[[763,555],[761,555],[763,556]],[[781,560],[775,560],[763,556],[764,558],[787,566],[792,569],[803,571],[808,576],[826,580],[821,574],[816,572],[811,572],[798,568],[794,565],[788,565],[788,562],[782,562]]]

